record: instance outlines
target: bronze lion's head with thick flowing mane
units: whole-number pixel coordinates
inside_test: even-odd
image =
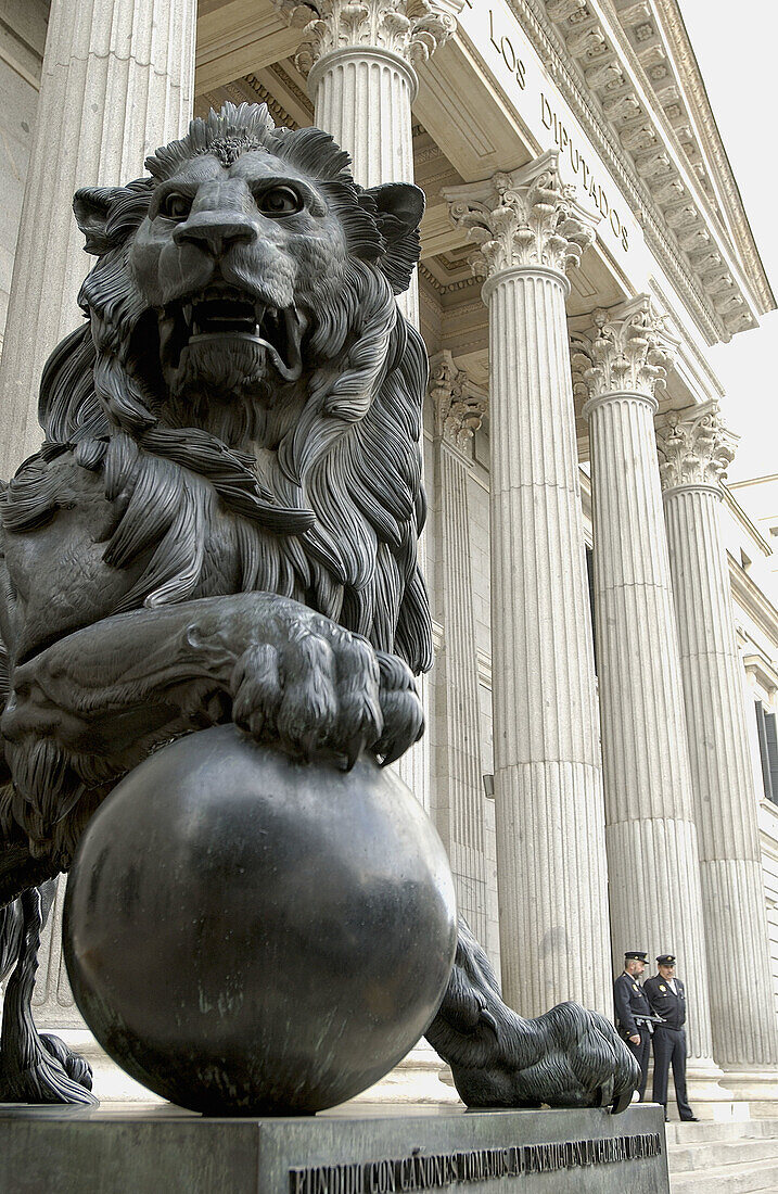
[[[146,165],[150,178],[76,192],[98,258],[80,295],[91,333],[55,350],[41,392],[43,460],[72,448],[123,494],[106,562],[148,556],[121,608],[203,591],[216,500],[235,517],[240,587],[305,601],[428,667],[426,355],[395,301],[421,192],[360,189],[329,136],[276,128],[265,105],[211,111]],[[47,501],[33,457],[6,525]]]

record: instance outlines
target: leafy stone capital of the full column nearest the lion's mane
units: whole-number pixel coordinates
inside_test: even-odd
[[[521,170],[444,190],[455,223],[478,244],[487,278],[504,270],[544,267],[566,273],[594,240],[597,217],[560,180],[552,150]]]

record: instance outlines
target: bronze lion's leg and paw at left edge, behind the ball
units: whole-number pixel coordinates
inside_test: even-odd
[[[32,989],[38,968],[41,930],[54,899],[56,880],[30,887],[2,910],[8,978],[0,1036],[0,1102],[95,1103],[92,1071],[57,1036],[38,1034],[32,1020]]]

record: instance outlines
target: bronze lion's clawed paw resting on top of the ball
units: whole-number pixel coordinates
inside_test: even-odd
[[[385,731],[396,750],[399,719],[384,724],[382,712],[382,693],[394,698],[394,688],[382,684],[376,652],[328,618],[307,617],[283,644],[249,647],[230,689],[235,724],[296,758],[334,753],[351,767],[363,750],[378,751]]]

